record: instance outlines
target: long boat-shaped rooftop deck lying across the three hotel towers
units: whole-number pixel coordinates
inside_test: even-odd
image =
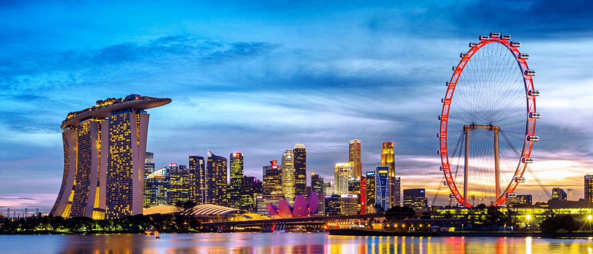
[[[146,110],[148,108],[156,108],[162,105],[169,104],[171,99],[169,98],[154,98],[154,97],[136,97],[126,101],[117,101],[113,104],[104,105],[96,108],[86,108],[78,111],[74,116],[66,118],[62,121],[62,130],[65,130],[68,126],[76,126],[80,121],[88,118],[107,118],[111,112],[125,110],[127,108],[135,108],[136,110]]]

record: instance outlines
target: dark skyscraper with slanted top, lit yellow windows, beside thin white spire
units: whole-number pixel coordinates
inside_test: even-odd
[[[227,158],[210,151],[206,160],[206,203],[227,205]]]

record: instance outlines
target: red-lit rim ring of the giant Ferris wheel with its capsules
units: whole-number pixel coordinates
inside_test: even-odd
[[[496,33],[492,33],[492,34],[496,34]],[[491,35],[492,35],[491,34]],[[510,36],[508,36],[508,38],[510,38]],[[533,71],[533,75],[531,75],[531,73],[528,73],[527,70],[530,70],[525,57],[521,57],[521,52],[518,49],[517,46],[517,42],[514,41],[509,41],[508,38],[504,38],[504,36],[501,36],[498,34],[498,36],[490,36],[488,38],[485,38],[484,36],[480,36],[480,42],[479,43],[470,43],[470,50],[468,50],[467,53],[465,54],[461,54],[461,60],[458,63],[457,66],[453,67],[453,75],[451,76],[451,79],[449,80],[449,82],[447,82],[447,93],[445,94],[445,98],[442,99],[442,103],[443,103],[443,107],[442,107],[442,111],[441,111],[441,115],[439,116],[439,120],[441,120],[440,123],[440,130],[439,130],[439,142],[440,142],[440,149],[439,149],[439,154],[441,155],[441,164],[442,164],[442,171],[445,175],[445,184],[448,185],[449,190],[451,191],[451,194],[453,195],[453,197],[455,197],[455,199],[459,202],[459,204],[465,204],[465,207],[472,207],[472,205],[469,205],[469,202],[467,202],[466,200],[464,200],[464,198],[462,197],[462,195],[460,194],[460,191],[457,188],[457,185],[455,185],[455,181],[454,181],[454,177],[452,176],[451,173],[451,168],[449,167],[449,157],[448,157],[448,146],[447,146],[447,128],[448,128],[448,118],[449,118],[449,110],[450,110],[450,106],[451,106],[451,101],[455,92],[455,87],[457,86],[457,81],[460,79],[461,73],[464,70],[464,67],[466,67],[468,61],[471,59],[471,57],[474,56],[474,54],[476,54],[477,52],[479,52],[480,49],[482,49],[482,47],[486,46],[487,44],[490,43],[499,43],[502,44],[503,46],[506,47],[506,49],[509,50],[509,52],[512,53],[512,56],[515,57],[515,60],[517,61],[517,64],[519,66],[519,70],[521,70],[522,73],[522,78],[523,78],[523,83],[525,86],[525,97],[526,97],[526,105],[527,105],[527,121],[525,123],[525,139],[524,139],[524,143],[523,143],[523,148],[521,151],[521,158],[519,158],[519,162],[517,165],[517,169],[515,170],[514,176],[511,180],[511,182],[509,182],[508,186],[506,187],[506,189],[504,189],[504,191],[502,191],[502,194],[500,194],[499,197],[496,197],[496,201],[493,202],[493,206],[498,206],[503,204],[506,201],[507,198],[507,194],[509,193],[513,193],[515,188],[517,188],[519,182],[515,181],[516,178],[522,178],[523,174],[525,173],[525,169],[527,168],[527,163],[533,161],[533,159],[531,159],[531,149],[533,147],[533,140],[530,140],[528,137],[530,136],[534,136],[535,134],[535,117],[531,117],[532,114],[538,114],[537,111],[535,111],[535,94],[531,93],[530,91],[535,91],[534,90],[534,85],[533,85],[533,75],[535,74],[535,72]],[[518,45],[520,46],[520,43],[518,43]],[[537,141],[537,140],[536,140]],[[527,161],[525,160],[527,159]],[[465,192],[466,190],[464,190]]]

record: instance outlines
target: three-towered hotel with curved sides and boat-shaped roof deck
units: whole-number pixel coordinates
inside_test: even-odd
[[[64,173],[53,216],[119,218],[142,213],[149,108],[171,99],[128,95],[70,112],[62,121]]]

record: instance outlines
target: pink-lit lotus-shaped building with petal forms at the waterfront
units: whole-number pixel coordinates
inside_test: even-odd
[[[286,200],[279,200],[278,207],[273,204],[267,204],[267,213],[273,218],[299,218],[307,217],[317,213],[318,197],[317,193],[311,192],[309,198],[304,195],[295,197],[293,207]]]

